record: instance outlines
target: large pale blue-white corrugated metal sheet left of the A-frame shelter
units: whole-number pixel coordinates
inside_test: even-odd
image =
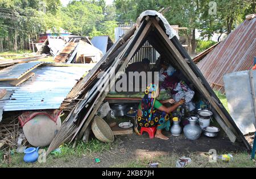
[[[0,88],[14,90],[3,111],[59,109],[73,86],[89,70],[77,66],[39,66],[32,70],[34,77],[17,87],[0,82]]]

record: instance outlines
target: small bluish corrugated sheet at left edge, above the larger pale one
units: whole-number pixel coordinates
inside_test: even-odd
[[[0,70],[0,81],[17,80],[40,64],[42,64],[42,62],[34,61],[29,63],[15,64]]]

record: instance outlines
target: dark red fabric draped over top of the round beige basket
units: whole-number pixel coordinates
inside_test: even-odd
[[[20,126],[24,126],[28,121],[35,118],[36,115],[46,115],[49,119],[56,123],[58,116],[60,115],[60,110],[47,110],[47,111],[26,111],[19,115]]]

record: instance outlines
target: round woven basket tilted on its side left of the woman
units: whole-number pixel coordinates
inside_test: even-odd
[[[109,127],[108,123],[99,116],[95,116],[92,123],[92,131],[96,138],[104,142],[114,141],[114,134]]]

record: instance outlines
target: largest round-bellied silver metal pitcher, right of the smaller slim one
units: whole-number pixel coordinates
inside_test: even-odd
[[[196,140],[200,138],[201,135],[201,127],[197,124],[199,118],[196,116],[188,117],[189,124],[187,124],[184,128],[184,135],[189,140]]]

